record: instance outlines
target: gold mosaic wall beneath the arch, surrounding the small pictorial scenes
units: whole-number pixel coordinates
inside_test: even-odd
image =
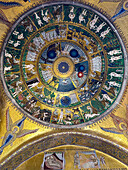
[[[58,147],[52,150],[47,150],[45,153],[40,153],[37,156],[29,159],[27,162],[22,164],[17,168],[17,170],[22,170],[25,168],[30,168],[34,170],[34,168],[37,169],[43,169],[43,167],[46,164],[46,157],[48,157],[48,154],[63,154],[64,156],[61,158],[61,166],[63,164],[65,165],[65,169],[69,170],[76,170],[78,168],[83,168],[89,166],[89,158],[93,156],[95,158],[95,168],[127,168],[125,165],[120,164],[117,160],[114,160],[112,157],[106,156],[106,154],[103,154],[97,150],[94,149],[88,149],[84,147],[75,147],[75,146],[63,146]],[[45,156],[44,156],[45,154]],[[60,157],[59,157],[60,158]],[[85,161],[86,158],[86,161]],[[46,161],[45,161],[46,160]],[[70,160],[70,161],[69,161]],[[90,161],[91,162],[91,161]],[[113,162],[113,163],[111,163]]]

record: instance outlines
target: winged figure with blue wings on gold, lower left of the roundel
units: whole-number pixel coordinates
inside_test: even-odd
[[[23,136],[26,136],[28,134],[35,133],[38,131],[38,129],[34,129],[34,130],[23,129],[25,119],[26,117],[23,116],[22,119],[19,119],[18,121],[13,123],[9,115],[9,108],[6,110],[7,132],[5,133],[3,137],[2,146],[0,147],[0,155],[3,152],[3,149],[10,144],[12,145],[13,142],[16,140],[16,138],[21,138]]]

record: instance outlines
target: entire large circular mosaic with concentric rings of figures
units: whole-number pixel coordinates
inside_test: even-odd
[[[5,91],[21,112],[54,127],[100,120],[120,101],[126,51],[113,24],[89,6],[39,5],[15,22],[1,54]]]

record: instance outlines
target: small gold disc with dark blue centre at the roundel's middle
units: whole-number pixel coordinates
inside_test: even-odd
[[[70,77],[74,72],[74,63],[68,57],[59,57],[53,64],[53,73],[59,78]]]

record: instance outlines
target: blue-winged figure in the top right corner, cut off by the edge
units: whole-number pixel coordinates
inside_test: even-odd
[[[111,18],[113,21],[128,15],[128,0],[99,0],[99,3],[101,2],[119,2],[115,14]]]

